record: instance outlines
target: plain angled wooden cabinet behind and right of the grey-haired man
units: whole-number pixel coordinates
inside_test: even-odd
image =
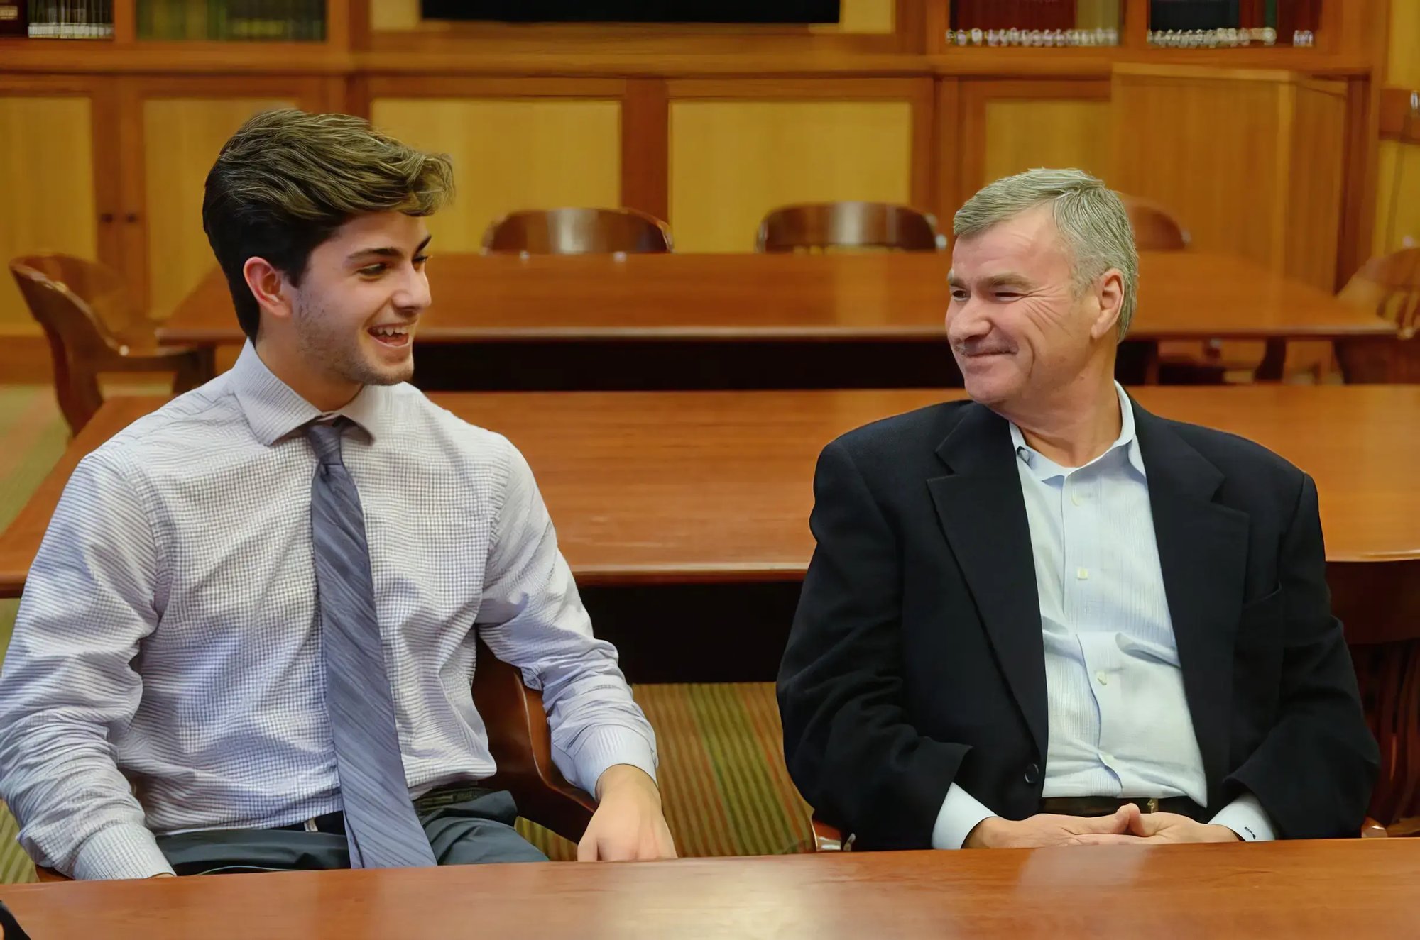
[[[1112,183],[1206,251],[1336,287],[1346,84],[1288,71],[1119,65]]]

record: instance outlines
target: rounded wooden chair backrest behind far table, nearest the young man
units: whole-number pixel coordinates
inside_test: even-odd
[[[635,209],[535,209],[498,219],[483,234],[484,253],[659,254],[670,226]]]

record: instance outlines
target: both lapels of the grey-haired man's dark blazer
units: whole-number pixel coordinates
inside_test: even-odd
[[[1223,473],[1130,399],[1149,479],[1154,538],[1184,692],[1217,801],[1228,758],[1233,646],[1242,606],[1247,513],[1216,500]],[[1005,680],[1044,757],[1048,744],[1045,649],[1031,531],[1005,419],[966,405],[937,446],[946,473],[927,480],[937,520],[995,649]]]

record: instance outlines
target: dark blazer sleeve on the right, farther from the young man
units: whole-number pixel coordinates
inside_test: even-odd
[[[1278,581],[1285,618],[1278,717],[1224,787],[1255,794],[1281,838],[1355,836],[1380,754],[1331,612],[1316,486],[1306,476],[1282,535]]]

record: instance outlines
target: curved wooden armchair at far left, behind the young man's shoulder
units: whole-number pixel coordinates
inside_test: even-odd
[[[158,324],[139,314],[119,275],[67,254],[36,254],[10,263],[30,312],[54,359],[54,392],[70,430],[78,433],[104,403],[104,372],[170,372],[173,393],[214,373],[213,349],[159,346]]]

